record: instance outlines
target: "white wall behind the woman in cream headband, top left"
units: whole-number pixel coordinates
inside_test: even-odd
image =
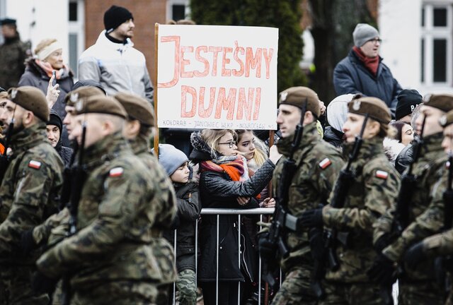
[[[17,19],[21,39],[31,40],[34,50],[40,40],[56,38],[63,44],[68,61],[69,0],[6,0],[6,14]]]

